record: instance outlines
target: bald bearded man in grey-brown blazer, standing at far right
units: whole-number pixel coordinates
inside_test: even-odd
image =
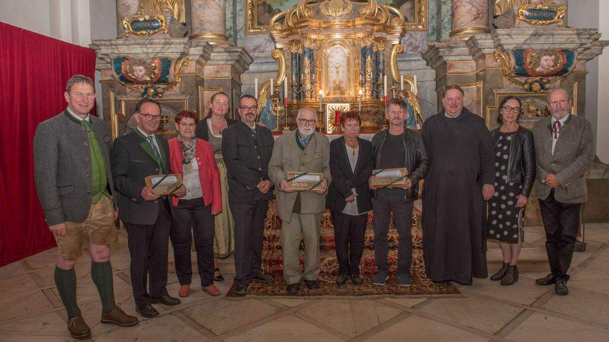
[[[588,120],[569,114],[571,100],[566,91],[551,91],[547,104],[552,115],[533,125],[537,155],[534,189],[546,230],[551,273],[535,282],[555,284],[557,295],[568,295],[567,271],[579,227],[579,208],[588,194],[584,173],[594,158],[593,135]]]

